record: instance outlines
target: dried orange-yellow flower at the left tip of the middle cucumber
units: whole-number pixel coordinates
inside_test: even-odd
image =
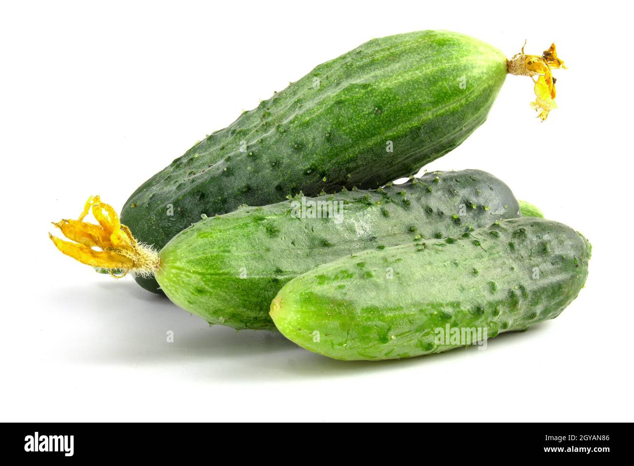
[[[98,224],[84,222],[89,211]],[[61,240],[49,233],[55,247],[82,264],[108,269],[115,278],[127,273],[148,277],[160,270],[159,253],[152,246],[137,242],[130,229],[121,224],[115,209],[101,202],[99,196],[88,198],[79,219],[53,224],[72,240]]]

